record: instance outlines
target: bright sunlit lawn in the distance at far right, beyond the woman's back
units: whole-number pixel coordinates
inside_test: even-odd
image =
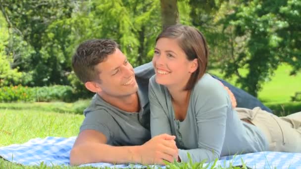
[[[262,90],[258,92],[258,99],[273,110],[274,114],[278,116],[301,111],[301,101],[291,101],[291,97],[294,96],[297,91],[301,91],[301,72],[296,76],[289,76],[291,69],[290,66],[285,64],[279,66],[275,71],[274,76],[271,77],[271,81],[264,83],[262,85]],[[244,70],[239,71],[242,74],[246,73]],[[218,70],[209,72],[219,77],[223,77]],[[227,81],[236,85],[235,77],[227,79]]]

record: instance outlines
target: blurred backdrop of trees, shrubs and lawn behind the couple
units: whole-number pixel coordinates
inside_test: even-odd
[[[0,102],[90,98],[71,69],[79,43],[113,39],[138,66],[181,23],[204,33],[210,73],[274,111],[301,111],[300,0],[0,0],[0,10]]]

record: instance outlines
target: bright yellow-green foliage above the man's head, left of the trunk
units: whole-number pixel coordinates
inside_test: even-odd
[[[151,60],[161,30],[158,8],[158,0],[83,2],[71,21],[70,38],[76,45],[87,39],[113,39],[133,66],[141,65]]]

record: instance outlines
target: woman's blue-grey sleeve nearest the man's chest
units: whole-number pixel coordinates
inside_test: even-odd
[[[149,100],[151,109],[151,137],[159,134],[171,134],[168,112],[162,104],[162,91],[160,86],[155,83],[154,76],[151,77],[149,85]],[[165,104],[166,105],[166,104]]]

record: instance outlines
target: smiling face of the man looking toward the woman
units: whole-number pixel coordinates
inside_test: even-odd
[[[102,94],[122,97],[134,94],[138,90],[133,66],[126,56],[116,48],[116,51],[98,64],[95,68],[99,74]]]

